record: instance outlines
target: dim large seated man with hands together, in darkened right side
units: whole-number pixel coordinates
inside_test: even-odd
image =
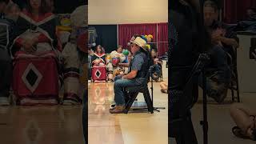
[[[231,74],[223,46],[237,46],[238,43],[233,38],[225,38],[222,28],[214,26],[214,22],[218,18],[218,7],[214,2],[206,1],[203,12],[205,25],[212,42],[212,47],[208,51],[210,64],[206,67],[206,91],[208,96],[221,103],[226,98]],[[200,81],[200,85],[202,85],[202,81]]]

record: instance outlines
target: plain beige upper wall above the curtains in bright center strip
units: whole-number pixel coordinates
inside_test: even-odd
[[[168,0],[89,0],[90,25],[168,22]]]

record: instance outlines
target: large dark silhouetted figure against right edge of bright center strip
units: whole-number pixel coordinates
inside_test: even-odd
[[[198,143],[190,110],[185,114],[180,114],[180,110],[187,104],[183,98],[186,79],[198,55],[208,47],[206,36],[199,0],[169,1],[168,135],[175,138],[178,144]],[[198,87],[196,83],[191,89]],[[193,90],[193,94],[198,94],[197,89]],[[192,94],[186,97],[192,97]]]

